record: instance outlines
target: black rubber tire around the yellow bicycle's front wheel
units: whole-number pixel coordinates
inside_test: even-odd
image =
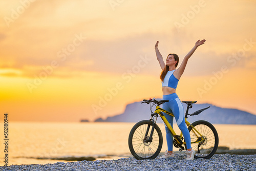
[[[130,152],[131,152],[131,154],[136,158],[136,159],[138,159],[138,160],[144,160],[144,159],[155,159],[158,155],[159,155],[159,153],[160,153],[160,151],[161,151],[161,149],[162,149],[162,145],[163,145],[163,136],[162,136],[162,132],[161,132],[161,130],[160,130],[160,128],[159,128],[159,126],[157,125],[157,124],[155,124],[155,127],[154,127],[154,132],[156,131],[157,132],[157,136],[158,136],[158,146],[157,146],[157,149],[156,149],[156,151],[154,152],[154,154],[152,154],[152,155],[150,155],[150,156],[142,156],[142,155],[140,155],[135,149],[134,149],[134,143],[133,143],[133,137],[134,136],[137,136],[135,133],[137,133],[136,132],[136,130],[137,129],[139,129],[140,128],[140,126],[142,126],[142,125],[145,125],[145,127],[147,127],[146,125],[151,125],[152,126],[152,121],[150,121],[150,120],[142,120],[142,121],[140,121],[140,122],[138,122],[138,123],[136,123],[134,126],[133,126],[133,128],[132,128],[132,130],[131,130],[131,132],[130,132],[130,134],[129,134],[129,138],[128,138],[128,144],[129,144],[129,149],[130,149]],[[142,137],[141,137],[142,138]],[[140,140],[141,140],[141,145],[143,146],[144,145],[144,147],[146,146],[144,143],[143,143],[143,138],[141,139],[140,138]],[[157,138],[157,137],[156,137]],[[154,141],[154,139],[153,139],[153,141]],[[151,144],[150,144],[151,145]],[[148,145],[149,146],[149,145]],[[152,143],[152,146],[151,147],[154,147],[154,144]],[[150,147],[150,148],[151,148]],[[156,148],[156,147],[155,147]],[[151,148],[152,149],[152,148]],[[149,151],[151,151],[151,149],[149,150]]]

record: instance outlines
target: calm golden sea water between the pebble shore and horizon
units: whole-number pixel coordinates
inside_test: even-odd
[[[130,155],[127,144],[128,135],[134,124],[116,122],[10,122],[8,165],[59,162],[59,160],[39,160],[37,159],[38,157],[127,156]],[[0,125],[3,124],[0,123]],[[164,125],[159,123],[158,125],[164,136],[162,148],[162,152],[164,152],[167,149]],[[256,125],[215,124],[214,126],[219,134],[219,146],[228,146],[231,149],[256,149]],[[174,129],[179,132],[177,125],[175,125]],[[1,166],[4,165],[3,157],[5,155],[3,139],[1,136]],[[174,151],[178,151],[178,149],[174,148]],[[110,159],[115,158],[121,157],[112,157]]]

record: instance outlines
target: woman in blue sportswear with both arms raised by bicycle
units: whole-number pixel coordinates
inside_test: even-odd
[[[178,63],[179,63],[178,55],[169,54],[167,56],[166,64],[165,64],[163,57],[158,50],[158,42],[159,41],[157,41],[155,45],[155,50],[156,50],[157,60],[159,61],[160,67],[162,69],[160,79],[162,80],[163,99],[169,100],[169,102],[165,102],[163,104],[163,109],[166,111],[172,112],[174,114],[175,120],[187,144],[186,160],[193,160],[196,152],[191,148],[190,135],[187,130],[187,126],[185,124],[185,119],[184,119],[184,109],[178,95],[176,94],[176,88],[177,88],[178,81],[187,65],[187,60],[196,51],[197,47],[204,44],[205,40],[201,40],[201,41],[198,40],[196,42],[193,49],[191,49],[188,52],[188,54],[183,59],[181,66],[177,70],[176,70],[176,67],[178,66]],[[173,116],[167,115],[165,113],[164,113],[164,116],[166,117],[170,125],[172,125],[173,127]],[[165,125],[165,130],[166,130],[166,140],[167,140],[168,151],[166,151],[165,154],[160,158],[174,157],[173,135],[170,133],[166,125]]]

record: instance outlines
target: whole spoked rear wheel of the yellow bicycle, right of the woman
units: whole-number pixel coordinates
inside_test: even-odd
[[[199,144],[198,143],[191,144],[191,148],[194,151],[196,151],[195,158],[204,158],[204,159],[211,158],[217,151],[217,148],[219,145],[219,136],[214,125],[204,120],[198,120],[192,123],[192,125],[195,127],[197,131],[199,131],[203,136],[206,137],[206,140],[202,144],[200,144],[200,147],[199,147],[200,153],[198,152]],[[193,132],[190,132],[191,130],[192,130],[192,127],[188,126],[191,142],[196,141],[197,137],[194,135]],[[185,144],[185,147],[186,147],[186,144]]]

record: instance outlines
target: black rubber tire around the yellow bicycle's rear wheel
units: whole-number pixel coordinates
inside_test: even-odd
[[[209,150],[211,150],[210,151],[210,153],[208,154],[208,155],[206,155],[206,156],[202,156],[202,157],[200,157],[199,156],[199,154],[197,153],[197,148],[193,148],[193,150],[195,150],[196,151],[196,155],[195,155],[195,158],[203,158],[203,159],[210,159],[214,154],[215,154],[215,152],[217,151],[217,148],[218,148],[218,145],[219,145],[219,136],[218,136],[218,133],[217,133],[217,131],[216,131],[216,129],[215,129],[215,127],[214,127],[214,125],[212,125],[210,122],[207,122],[207,121],[205,121],[205,120],[198,120],[198,121],[195,121],[195,122],[193,122],[192,123],[192,125],[194,126],[194,127],[196,127],[196,126],[198,126],[198,125],[206,125],[206,126],[208,126],[208,128],[212,131],[212,133],[214,134],[214,138],[215,138],[215,141],[214,141],[214,146],[213,146],[213,148],[209,148]],[[204,132],[205,131],[209,131],[209,129],[205,129],[204,128]],[[190,132],[192,130],[192,127],[191,126],[188,126],[188,131]],[[198,129],[197,129],[198,130]],[[198,130],[202,135],[204,134],[204,133],[202,133],[200,130]],[[203,135],[203,136],[205,136],[205,135]],[[206,138],[207,138],[207,136],[206,136]],[[193,141],[193,140],[191,140],[191,141]],[[192,145],[192,144],[191,144]],[[195,144],[195,146],[197,146],[197,144]],[[185,144],[185,147],[186,147],[186,144]]]

